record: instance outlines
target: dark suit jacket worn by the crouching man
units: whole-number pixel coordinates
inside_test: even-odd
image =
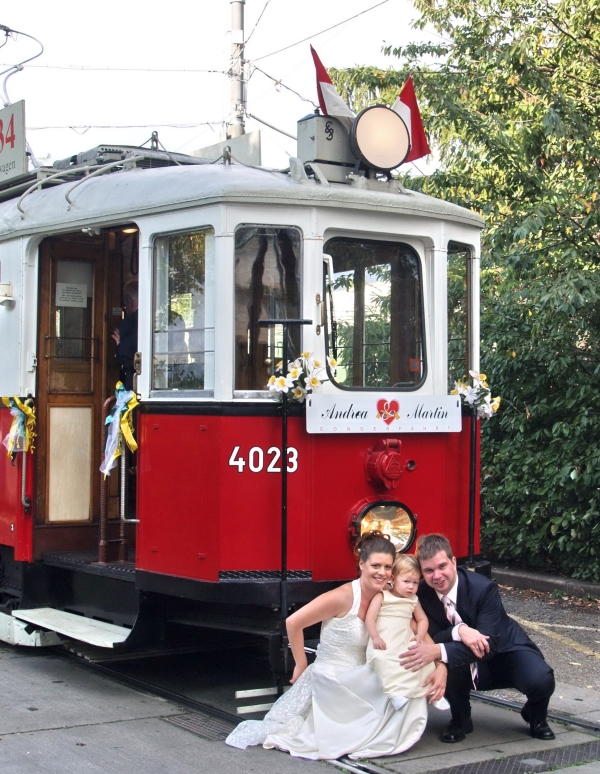
[[[446,617],[441,600],[424,580],[417,592],[419,602],[429,618],[429,635],[436,643],[443,643],[448,655],[448,667],[489,660],[498,653],[515,650],[535,650],[538,647],[506,614],[498,586],[484,575],[458,568],[458,596],[456,610],[467,626],[489,636],[490,652],[483,659],[476,659],[473,651],[462,642],[452,639],[452,625]]]

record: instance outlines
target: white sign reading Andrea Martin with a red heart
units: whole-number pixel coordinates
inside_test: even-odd
[[[313,393],[306,402],[309,433],[459,433],[456,395]]]

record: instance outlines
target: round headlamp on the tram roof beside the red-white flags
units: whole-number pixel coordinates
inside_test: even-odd
[[[408,156],[410,135],[398,113],[385,105],[373,105],[354,119],[350,148],[368,167],[389,172]]]

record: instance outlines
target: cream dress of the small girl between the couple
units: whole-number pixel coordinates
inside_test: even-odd
[[[387,645],[376,650],[369,639],[367,663],[375,671],[386,696],[405,696],[414,699],[424,696],[423,683],[435,672],[434,664],[427,664],[418,672],[405,669],[398,659],[413,637],[410,622],[417,605],[417,597],[397,597],[390,591],[383,592],[383,602],[377,616],[377,631]],[[431,689],[429,689],[431,690]]]

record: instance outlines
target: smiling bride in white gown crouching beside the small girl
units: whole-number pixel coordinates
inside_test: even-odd
[[[410,699],[395,710],[375,672],[365,663],[369,603],[391,577],[396,555],[380,532],[357,543],[360,577],[328,591],[286,622],[296,666],[292,688],[275,702],[264,720],[247,720],[227,737],[245,749],[262,744],[300,758],[373,758],[395,755],[417,742],[427,722],[427,699],[444,695],[446,667],[439,664],[425,683],[427,698]],[[315,663],[308,666],[304,629],[322,621]]]

